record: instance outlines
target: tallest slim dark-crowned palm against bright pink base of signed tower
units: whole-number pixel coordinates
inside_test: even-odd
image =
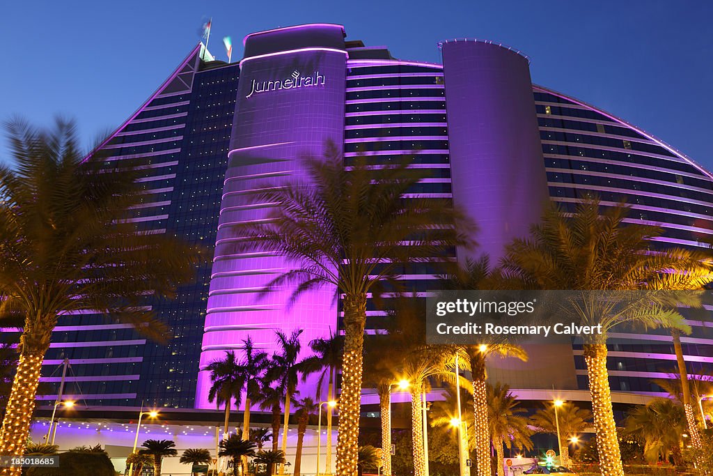
[[[270,368],[267,369],[266,378],[277,380],[279,388],[284,390],[284,425],[282,427],[282,452],[287,452],[287,430],[289,427],[289,405],[292,402],[292,395],[297,388],[299,373],[301,371],[299,351],[302,350],[302,343],[299,335],[303,329],[295,329],[288,336],[282,330],[276,330],[277,344],[279,352],[272,355]],[[279,474],[284,474],[284,464],[279,466]]]

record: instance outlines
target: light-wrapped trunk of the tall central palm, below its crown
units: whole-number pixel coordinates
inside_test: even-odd
[[[364,362],[366,293],[344,296],[344,357],[339,397],[337,476],[354,476],[359,460],[361,372]]]

